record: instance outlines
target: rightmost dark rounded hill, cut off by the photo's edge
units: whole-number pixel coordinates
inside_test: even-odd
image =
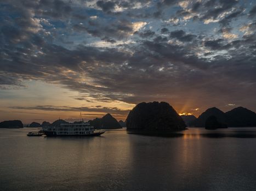
[[[256,127],[256,114],[246,108],[238,107],[226,112],[229,127]]]

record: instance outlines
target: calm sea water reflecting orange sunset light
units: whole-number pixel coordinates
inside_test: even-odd
[[[0,129],[0,190],[256,190],[256,128],[190,128],[175,138],[30,131]]]

